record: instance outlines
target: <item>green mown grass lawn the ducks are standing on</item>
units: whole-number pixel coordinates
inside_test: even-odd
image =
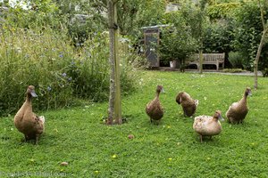
[[[138,92],[122,98],[123,125],[103,125],[108,102],[82,108],[38,113],[46,117],[46,133],[38,145],[21,142],[13,116],[0,118],[0,177],[267,177],[268,78],[248,98],[242,125],[222,123],[222,133],[200,143],[193,117],[183,117],[175,97],[188,92],[199,100],[197,113],[225,112],[239,101],[253,77],[146,71]],[[160,125],[145,112],[163,85],[165,109]],[[133,134],[134,139],[128,135]],[[60,166],[65,161],[68,166]]]

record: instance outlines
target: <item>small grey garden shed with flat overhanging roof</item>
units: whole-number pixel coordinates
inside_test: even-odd
[[[145,55],[149,66],[152,68],[160,67],[160,59],[156,52],[156,47],[160,42],[161,28],[165,28],[167,25],[156,25],[143,27]]]

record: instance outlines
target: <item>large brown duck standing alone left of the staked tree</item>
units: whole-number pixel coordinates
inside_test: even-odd
[[[14,117],[14,125],[24,134],[25,142],[34,139],[37,144],[39,137],[45,130],[45,117],[38,117],[32,111],[32,98],[38,97],[35,87],[29,85],[26,91],[26,100]]]

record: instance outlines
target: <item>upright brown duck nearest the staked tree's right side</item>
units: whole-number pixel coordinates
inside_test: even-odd
[[[163,117],[163,106],[160,103],[159,95],[160,93],[164,93],[163,85],[157,85],[156,86],[156,93],[155,93],[155,99],[152,101],[149,101],[146,106],[146,112],[148,117],[150,117],[151,123],[155,120],[158,121],[158,124],[160,120]]]

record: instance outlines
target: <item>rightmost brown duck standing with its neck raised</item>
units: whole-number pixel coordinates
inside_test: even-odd
[[[226,117],[230,124],[240,124],[247,116],[247,96],[251,96],[251,88],[247,87],[242,99],[238,102],[233,102],[226,111]]]

